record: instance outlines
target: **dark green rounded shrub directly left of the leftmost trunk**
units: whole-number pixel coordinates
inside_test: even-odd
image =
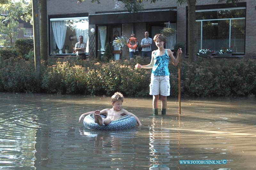
[[[23,58],[30,51],[34,51],[34,40],[29,39],[17,39],[15,41],[15,48],[17,49],[19,56]]]

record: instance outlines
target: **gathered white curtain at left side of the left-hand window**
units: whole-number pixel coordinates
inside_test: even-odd
[[[52,21],[52,32],[56,44],[60,49],[59,53],[62,54],[62,48],[64,46],[67,33],[66,21]]]

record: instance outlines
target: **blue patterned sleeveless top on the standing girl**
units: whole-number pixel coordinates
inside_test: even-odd
[[[152,73],[154,76],[169,76],[169,60],[170,57],[167,54],[167,49],[165,50],[164,55],[156,56],[156,53],[154,54],[154,66],[152,68]]]

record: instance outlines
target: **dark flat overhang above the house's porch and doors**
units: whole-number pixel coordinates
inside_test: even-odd
[[[170,21],[176,22],[177,11],[175,10],[155,10],[145,12],[120,12],[101,13],[89,15],[89,24],[120,24],[120,23],[140,23]]]

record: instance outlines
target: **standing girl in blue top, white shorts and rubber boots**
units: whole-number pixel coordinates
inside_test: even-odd
[[[178,56],[175,59],[170,49],[164,48],[166,37],[163,34],[156,34],[154,39],[157,50],[152,51],[151,62],[148,65],[140,65],[137,63],[135,68],[138,69],[151,69],[151,82],[150,82],[150,95],[153,95],[153,114],[158,115],[158,99],[159,93],[162,101],[162,115],[166,114],[167,96],[170,96],[170,73],[168,69],[169,61],[173,65],[178,65],[180,55],[182,54],[181,48],[178,49]]]

